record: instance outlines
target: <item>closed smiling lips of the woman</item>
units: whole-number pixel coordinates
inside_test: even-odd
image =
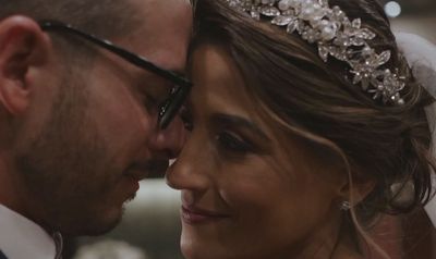
[[[187,224],[207,223],[230,218],[230,214],[187,206],[182,206],[181,214],[183,222]]]

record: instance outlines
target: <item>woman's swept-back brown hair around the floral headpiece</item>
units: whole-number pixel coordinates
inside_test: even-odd
[[[353,84],[346,63],[331,58],[324,62],[315,44],[271,25],[270,18],[256,21],[226,0],[196,2],[192,48],[211,44],[227,50],[246,94],[282,134],[304,139],[327,166],[341,164],[338,169],[350,176],[350,186],[375,183],[360,202],[353,205],[350,197],[348,215],[354,213],[354,221],[368,226],[380,212],[409,212],[432,197],[435,163],[424,108],[434,99],[415,82],[376,0],[328,2],[376,34],[368,42],[377,53],[390,50],[383,69],[405,78],[403,103],[374,99]]]

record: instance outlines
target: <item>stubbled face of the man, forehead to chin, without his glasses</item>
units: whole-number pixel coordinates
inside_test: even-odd
[[[110,40],[164,69],[183,71],[192,23],[189,1],[129,4],[143,22]],[[57,69],[51,74],[58,76],[47,81],[52,84],[40,82],[36,89],[50,95],[35,95],[37,112],[23,121],[15,148],[16,168],[29,189],[27,199],[35,201],[29,205],[37,211],[32,217],[71,235],[113,227],[138,180],[164,173],[183,143],[179,119],[158,131],[152,112],[149,99],[165,99],[172,85],[97,51],[86,71]]]

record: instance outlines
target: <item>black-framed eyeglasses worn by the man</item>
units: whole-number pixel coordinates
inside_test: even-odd
[[[168,99],[159,107],[158,125],[160,128],[166,128],[170,124],[170,122],[178,114],[180,108],[182,107],[191,90],[192,83],[189,79],[175,74],[172,71],[161,69],[148,61],[147,59],[138,54],[132,53],[121,47],[118,47],[109,40],[100,39],[92,34],[86,34],[69,24],[63,24],[58,21],[45,20],[39,21],[38,23],[43,30],[60,30],[80,36],[81,38],[86,39],[87,41],[93,42],[119,55],[120,58],[132,63],[133,65],[153,72],[173,83],[175,87],[171,90]]]

